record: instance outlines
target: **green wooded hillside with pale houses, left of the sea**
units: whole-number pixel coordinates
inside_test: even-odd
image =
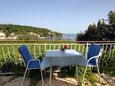
[[[27,37],[60,37],[61,33],[51,31],[47,28],[39,28],[32,26],[22,26],[22,25],[14,25],[14,24],[0,24],[0,32],[4,33],[6,38],[15,36],[17,38]]]

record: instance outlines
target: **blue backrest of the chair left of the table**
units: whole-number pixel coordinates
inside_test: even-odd
[[[19,47],[19,52],[22,55],[22,57],[24,59],[24,62],[26,64],[26,66],[27,66],[28,61],[31,60],[31,55],[30,55],[30,52],[29,52],[27,46],[26,45],[21,45]]]

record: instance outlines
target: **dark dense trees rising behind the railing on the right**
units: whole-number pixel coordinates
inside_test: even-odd
[[[84,33],[77,34],[79,41],[115,41],[115,12],[108,13],[108,19],[91,24]]]

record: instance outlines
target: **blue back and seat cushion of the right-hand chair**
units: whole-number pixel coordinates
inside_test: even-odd
[[[93,56],[97,56],[101,50],[101,46],[97,44],[91,44],[88,53],[87,53],[87,60],[89,60]],[[96,65],[96,59],[92,59],[89,61],[90,65]]]

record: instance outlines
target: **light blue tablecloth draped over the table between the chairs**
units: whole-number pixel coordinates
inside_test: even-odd
[[[87,63],[86,58],[75,50],[49,50],[41,63],[41,69],[51,66],[83,65]]]

